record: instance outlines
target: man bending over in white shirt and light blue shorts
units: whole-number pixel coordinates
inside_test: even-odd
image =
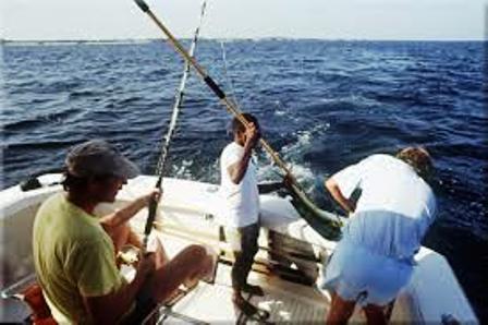
[[[326,181],[351,215],[321,284],[332,291],[328,324],[346,324],[356,303],[368,324],[387,324],[435,218],[436,200],[426,182],[431,171],[428,152],[407,147],[395,157],[373,155]],[[357,189],[355,204],[349,197]]]

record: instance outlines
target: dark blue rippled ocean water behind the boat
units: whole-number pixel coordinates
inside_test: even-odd
[[[187,45],[187,43],[186,43]],[[425,244],[448,257],[487,320],[486,44],[202,40],[197,60],[260,120],[265,137],[322,207],[322,180],[375,153],[424,145],[438,219]],[[73,144],[102,137],[152,173],[182,60],[160,40],[1,47],[2,188],[61,167]],[[171,146],[171,177],[219,182],[230,117],[193,75]],[[277,168],[258,153],[261,179]]]

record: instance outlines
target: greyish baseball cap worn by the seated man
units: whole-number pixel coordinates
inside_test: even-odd
[[[91,140],[73,146],[64,161],[75,177],[112,174],[125,179],[139,173],[137,166],[103,140]]]

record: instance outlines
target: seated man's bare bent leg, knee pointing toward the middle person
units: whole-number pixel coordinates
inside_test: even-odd
[[[202,245],[190,245],[156,269],[148,287],[155,302],[162,302],[186,281],[195,281],[213,269],[213,258]]]

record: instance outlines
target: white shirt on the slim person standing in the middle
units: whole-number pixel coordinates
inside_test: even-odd
[[[232,182],[228,171],[229,166],[241,160],[243,155],[244,147],[232,142],[225,146],[220,156],[220,195],[222,196],[220,214],[227,226],[234,228],[257,222],[259,215],[259,192],[253,159],[249,159],[247,170],[239,184]]]

